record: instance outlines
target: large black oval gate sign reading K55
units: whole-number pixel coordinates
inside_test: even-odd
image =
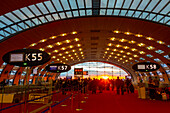
[[[18,49],[6,53],[2,59],[8,64],[26,67],[44,64],[50,60],[50,56],[38,49]]]

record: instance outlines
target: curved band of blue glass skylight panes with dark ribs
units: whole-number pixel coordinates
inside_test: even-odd
[[[164,25],[170,24],[169,0],[50,0],[37,3],[40,1],[43,0],[25,3],[16,1],[14,4],[18,3],[18,5],[12,4],[12,8],[7,8],[6,5],[2,7],[1,14],[3,15],[0,16],[1,41],[44,23],[76,17],[129,17]],[[27,7],[24,7],[26,5]],[[9,11],[8,13],[3,11],[5,7]],[[13,11],[14,7],[17,10]]]

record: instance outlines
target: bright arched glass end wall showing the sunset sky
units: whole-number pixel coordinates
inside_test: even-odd
[[[88,75],[83,75],[84,78],[109,78],[116,79],[117,76],[124,78],[128,74],[121,68],[102,62],[85,62],[71,66],[71,70],[61,73],[60,77],[72,76],[74,78],[74,68],[83,68],[83,71],[88,71]]]

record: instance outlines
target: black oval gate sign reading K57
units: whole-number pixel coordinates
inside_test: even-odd
[[[67,72],[70,69],[71,69],[70,65],[62,64],[62,63],[49,64],[48,66],[46,66],[47,71],[54,72],[54,73]]]

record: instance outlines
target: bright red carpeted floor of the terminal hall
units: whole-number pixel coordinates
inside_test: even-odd
[[[61,101],[69,95],[59,94],[58,97],[54,97],[54,101]],[[89,94],[80,93],[74,98],[69,98],[51,108],[51,113],[169,113],[170,111],[170,101],[142,100],[137,97],[137,93],[117,95],[113,91],[104,91],[97,94],[91,94],[91,92]],[[28,111],[35,110],[42,105],[29,104]],[[82,110],[77,111],[78,108]],[[21,109],[22,106],[18,106],[1,113],[21,113]]]

